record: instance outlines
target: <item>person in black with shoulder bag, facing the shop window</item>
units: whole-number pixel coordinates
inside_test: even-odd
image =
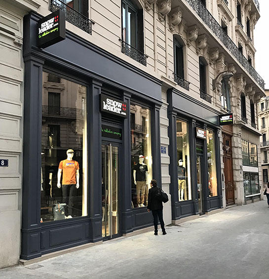
[[[152,180],[151,181],[151,189],[149,190],[149,197],[148,197],[148,211],[152,211],[153,215],[153,222],[154,222],[154,235],[158,235],[158,218],[160,221],[160,226],[162,230],[162,234],[166,235],[166,231],[164,228],[164,221],[163,221],[163,216],[162,216],[162,201],[160,201],[156,197],[156,193],[158,192],[159,188],[157,187],[157,181]]]

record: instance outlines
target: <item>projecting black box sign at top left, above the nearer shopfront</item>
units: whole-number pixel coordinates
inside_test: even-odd
[[[65,40],[65,12],[57,10],[38,20],[38,47]]]

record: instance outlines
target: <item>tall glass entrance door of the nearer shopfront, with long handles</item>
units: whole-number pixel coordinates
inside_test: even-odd
[[[111,239],[119,234],[118,146],[102,144],[102,235]]]

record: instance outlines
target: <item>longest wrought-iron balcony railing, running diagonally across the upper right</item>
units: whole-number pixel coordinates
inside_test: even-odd
[[[238,60],[243,68],[250,74],[250,76],[256,80],[256,82],[264,89],[265,81],[256,72],[256,70],[250,65],[245,56],[239,51],[238,47],[231,40],[231,38],[225,33],[223,28],[219,25],[212,14],[203,5],[201,0],[186,0],[198,14],[198,16],[205,22],[205,24],[212,30],[216,37],[223,42],[231,54]],[[257,1],[258,2],[258,1]]]

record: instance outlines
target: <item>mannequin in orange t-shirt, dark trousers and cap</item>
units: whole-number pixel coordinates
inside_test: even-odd
[[[75,188],[79,188],[79,166],[78,162],[73,160],[74,150],[69,149],[66,154],[67,159],[60,161],[59,164],[57,187],[61,188],[61,175],[63,174],[62,202],[66,203],[68,207],[68,216],[66,218],[73,218]]]

